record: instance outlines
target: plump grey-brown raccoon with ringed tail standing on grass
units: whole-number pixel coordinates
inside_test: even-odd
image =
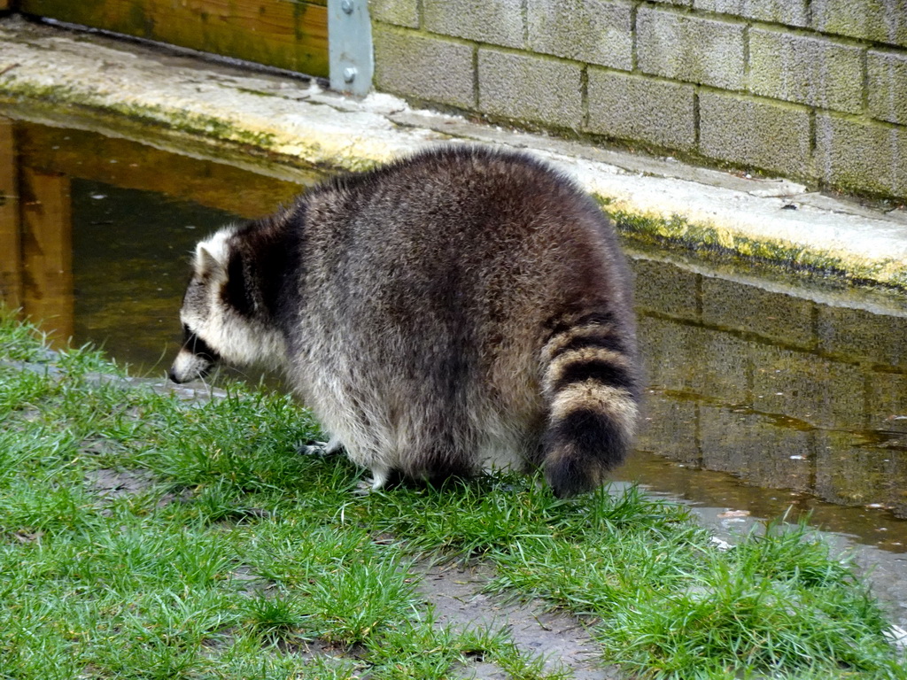
[[[522,153],[423,151],[222,228],[180,320],[174,382],[220,360],[282,369],[375,489],[541,466],[572,496],[623,461],[638,420],[613,228]]]

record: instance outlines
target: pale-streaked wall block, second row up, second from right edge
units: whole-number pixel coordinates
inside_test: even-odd
[[[826,38],[753,28],[749,89],[787,102],[863,110],[863,49]]]

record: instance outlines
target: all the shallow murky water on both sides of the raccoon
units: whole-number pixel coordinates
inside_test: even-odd
[[[102,345],[133,374],[163,377],[195,242],[272,211],[301,177],[0,119],[0,289],[47,319],[54,342]],[[904,552],[902,310],[631,255],[650,388],[639,452],[618,478],[718,510],[811,512]]]

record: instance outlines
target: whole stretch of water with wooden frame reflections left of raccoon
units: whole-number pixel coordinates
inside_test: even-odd
[[[201,235],[300,185],[90,132],[0,117],[0,295],[54,345],[163,375]]]

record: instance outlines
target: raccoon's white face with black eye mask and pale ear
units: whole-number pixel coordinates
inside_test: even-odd
[[[174,383],[204,377],[221,360],[273,365],[283,355],[283,341],[275,329],[263,324],[248,305],[231,304],[232,296],[242,295],[235,288],[246,284],[241,274],[234,275],[238,280],[229,280],[230,270],[242,268],[229,248],[233,231],[221,229],[196,248],[180,308],[183,343],[169,372]]]

